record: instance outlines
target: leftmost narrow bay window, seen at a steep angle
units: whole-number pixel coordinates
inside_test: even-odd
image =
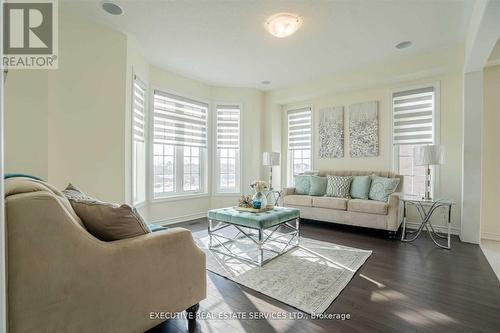
[[[134,75],[132,88],[132,203],[146,201],[146,84]]]

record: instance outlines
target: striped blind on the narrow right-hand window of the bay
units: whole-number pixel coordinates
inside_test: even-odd
[[[217,148],[240,147],[240,107],[217,105]]]

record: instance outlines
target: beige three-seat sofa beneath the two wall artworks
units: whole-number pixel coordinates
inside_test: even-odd
[[[394,238],[401,224],[399,191],[403,187],[403,177],[392,172],[380,171],[320,171],[319,176],[366,176],[400,178],[396,193],[389,196],[388,202],[362,199],[344,199],[325,196],[295,194],[294,188],[285,188],[282,203],[286,207],[300,209],[300,217],[324,222],[333,222],[387,230]]]

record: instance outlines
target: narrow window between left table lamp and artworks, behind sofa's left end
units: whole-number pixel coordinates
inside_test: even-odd
[[[293,176],[312,169],[312,108],[288,110],[288,183]]]

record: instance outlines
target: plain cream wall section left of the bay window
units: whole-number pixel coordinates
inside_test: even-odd
[[[49,73],[49,181],[125,201],[126,36],[61,13]]]

